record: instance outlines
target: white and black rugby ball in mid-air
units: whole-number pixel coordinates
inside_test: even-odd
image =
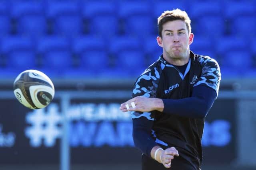
[[[54,98],[54,85],[50,78],[38,70],[21,72],[13,83],[14,95],[30,109],[41,109]]]

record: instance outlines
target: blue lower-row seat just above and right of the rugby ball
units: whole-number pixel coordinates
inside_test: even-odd
[[[48,36],[38,40],[37,53],[41,56],[42,70],[60,76],[72,69],[72,54],[69,41],[64,37]]]

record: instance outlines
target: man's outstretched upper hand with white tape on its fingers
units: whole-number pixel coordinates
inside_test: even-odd
[[[126,105],[128,105],[129,110],[126,108]],[[163,109],[164,109],[164,104],[161,99],[147,98],[144,96],[137,96],[135,98],[132,98],[122,103],[120,106],[120,110],[122,112],[126,112],[126,111],[149,112],[153,110],[163,111]]]

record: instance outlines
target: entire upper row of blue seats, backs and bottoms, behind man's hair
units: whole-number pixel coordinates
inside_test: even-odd
[[[166,7],[185,9],[200,35],[256,35],[256,2],[22,1],[0,3],[0,35],[154,35]]]

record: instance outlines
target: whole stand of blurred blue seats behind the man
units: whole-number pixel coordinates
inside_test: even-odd
[[[243,55],[248,58],[246,62],[252,62],[246,64],[249,72],[256,68],[255,7],[252,0],[1,1],[0,71],[11,70],[18,64],[13,63],[16,57],[24,68],[47,69],[49,65],[56,72],[66,68],[65,74],[70,72],[70,77],[71,72],[78,76],[118,77],[121,71],[117,70],[121,68],[126,69],[121,69],[125,75],[132,76],[132,72],[140,72],[161,54],[156,43],[157,17],[164,10],[180,8],[192,20],[194,53],[213,57],[226,72],[237,64],[229,61],[229,57],[234,55],[240,61],[239,55]],[[14,37],[17,42],[11,46]],[[246,43],[248,38],[252,45]],[[21,39],[36,43],[25,48]],[[30,60],[22,64],[22,57]],[[100,67],[96,69],[95,65]],[[234,76],[240,74],[244,73]]]

